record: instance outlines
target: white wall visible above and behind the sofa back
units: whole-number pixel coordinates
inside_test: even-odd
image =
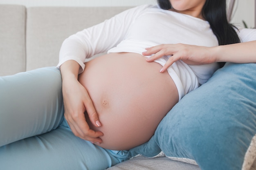
[[[138,6],[141,4],[156,4],[156,0],[0,0],[0,4],[22,4],[33,6]],[[242,20],[247,25],[254,27],[255,0],[236,0],[235,14],[231,22],[243,26]]]

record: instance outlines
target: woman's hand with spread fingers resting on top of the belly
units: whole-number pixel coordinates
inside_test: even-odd
[[[169,66],[178,60],[182,60],[189,65],[202,65],[216,62],[216,58],[211,55],[211,47],[187,44],[161,44],[146,48],[146,51],[143,52],[142,55],[152,55],[146,59],[147,62],[153,62],[164,55],[172,55],[160,70],[161,73],[166,71]]]

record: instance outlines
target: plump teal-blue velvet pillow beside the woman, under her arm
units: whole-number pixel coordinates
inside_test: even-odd
[[[193,160],[202,170],[241,170],[256,155],[256,64],[227,63],[185,95],[128,157]],[[244,165],[243,165],[244,164]]]

